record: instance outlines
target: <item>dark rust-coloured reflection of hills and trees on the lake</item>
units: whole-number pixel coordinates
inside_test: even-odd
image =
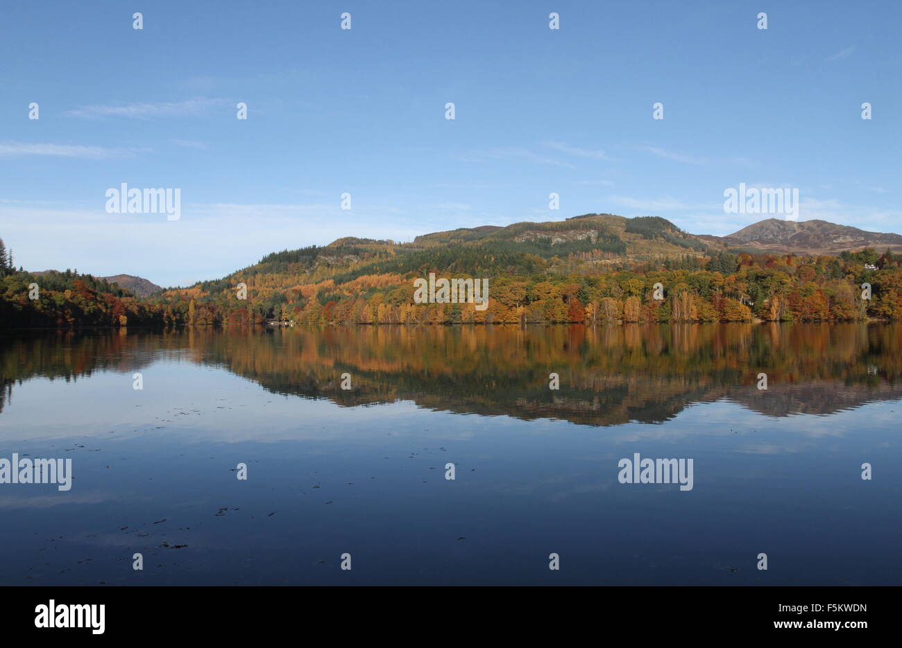
[[[902,325],[356,326],[53,333],[0,341],[0,407],[14,381],[132,371],[163,354],[273,392],[339,405],[419,406],[524,419],[655,423],[729,398],[767,415],[829,414],[902,397]],[[343,391],[349,372],[354,389]],[[548,374],[560,389],[548,388]],[[759,372],[769,389],[756,388]]]

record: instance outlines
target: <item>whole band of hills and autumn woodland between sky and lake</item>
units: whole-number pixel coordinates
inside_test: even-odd
[[[776,219],[703,238],[658,216],[581,214],[412,242],[345,237],[272,252],[224,278],[145,300],[70,270],[44,274],[36,299],[28,294],[35,277],[6,269],[0,319],[7,326],[902,320],[902,253],[849,251],[895,247],[899,239]],[[808,253],[824,247],[842,252]],[[417,279],[433,275],[491,278],[491,297],[478,310],[472,291],[424,301]]]

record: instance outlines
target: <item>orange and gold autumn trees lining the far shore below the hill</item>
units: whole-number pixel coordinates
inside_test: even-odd
[[[443,251],[445,256],[447,251]],[[468,251],[473,255],[476,251]],[[465,278],[442,254],[389,260],[373,274],[336,269],[317,277],[257,269],[224,280],[218,292],[172,290],[161,298],[186,324],[618,324],[667,322],[840,322],[902,318],[902,255],[873,250],[841,257],[717,252],[703,259],[635,263],[595,274],[491,271],[489,307],[415,304],[413,279]],[[460,257],[456,257],[459,260]],[[502,263],[508,261],[501,257]],[[538,263],[538,262],[537,262]],[[411,267],[415,268],[411,270]],[[367,266],[364,268],[372,269]],[[537,268],[540,269],[540,266]],[[479,277],[479,275],[475,275]],[[240,283],[247,298],[236,298]],[[655,298],[655,286],[662,294]],[[870,299],[862,299],[862,284]]]

